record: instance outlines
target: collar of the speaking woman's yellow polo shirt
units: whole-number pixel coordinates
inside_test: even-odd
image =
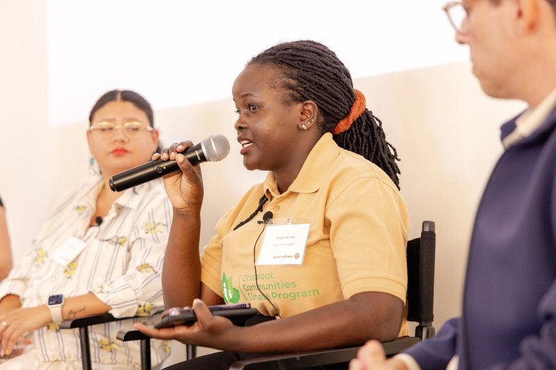
[[[330,169],[330,164],[334,162],[342,149],[332,139],[332,133],[325,133],[313,146],[300,173],[286,192],[313,193],[322,185],[325,175]],[[276,178],[272,172],[268,172],[263,189],[268,199],[279,196]]]

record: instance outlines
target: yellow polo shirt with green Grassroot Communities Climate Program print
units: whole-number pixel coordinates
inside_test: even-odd
[[[263,194],[269,199],[263,211],[234,231]],[[302,265],[260,265],[255,276],[254,253],[265,227],[257,221],[267,211],[274,219],[310,224],[309,236]],[[281,317],[361,292],[384,292],[405,303],[407,207],[382,169],[341,149],[332,134],[320,138],[286,192],[279,194],[269,172],[215,230],[201,255],[201,280],[227,303],[250,302],[262,314]],[[407,333],[404,320],[400,335]]]

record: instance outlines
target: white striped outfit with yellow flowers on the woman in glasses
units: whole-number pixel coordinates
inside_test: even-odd
[[[8,278],[0,283],[0,297],[19,296],[23,307],[44,305],[52,294],[78,296],[94,293],[111,306],[114,317],[148,316],[163,308],[161,269],[172,217],[162,180],[122,193],[99,226],[90,226],[102,181],[72,192],[54,210]],[[67,266],[49,256],[75,237],[85,242],[83,251]],[[115,335],[133,321],[90,327],[92,362],[136,365],[138,342],[120,342]],[[60,330],[58,324],[35,330],[33,342],[44,361],[79,360],[79,332]],[[166,342],[152,341],[156,365],[170,353]]]

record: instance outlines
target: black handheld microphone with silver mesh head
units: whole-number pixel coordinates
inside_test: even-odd
[[[191,146],[181,154],[185,155],[192,165],[198,165],[206,161],[217,162],[222,160],[226,158],[229,152],[230,143],[227,138],[224,135],[215,134],[206,137],[205,140]],[[179,171],[179,166],[175,160],[152,160],[144,165],[115,174],[108,180],[108,185],[113,192],[121,192],[177,171]]]

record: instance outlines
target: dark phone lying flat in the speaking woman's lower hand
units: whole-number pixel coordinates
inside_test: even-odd
[[[251,303],[236,303],[231,305],[209,305],[215,316],[227,317],[234,325],[243,326],[247,319],[259,314],[256,308],[251,308]],[[192,307],[173,307],[168,309],[161,317],[161,321],[154,324],[157,329],[177,325],[193,325],[197,321]]]

